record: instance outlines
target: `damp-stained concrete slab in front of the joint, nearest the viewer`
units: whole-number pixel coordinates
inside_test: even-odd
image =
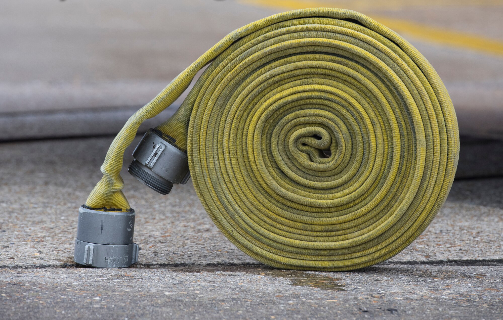
[[[2,269],[9,319],[497,319],[501,267]]]

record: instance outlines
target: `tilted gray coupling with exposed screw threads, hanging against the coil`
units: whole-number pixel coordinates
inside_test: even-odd
[[[190,178],[187,153],[167,141],[168,137],[148,129],[133,151],[128,172],[160,194],[168,194],[173,184],[186,184]]]

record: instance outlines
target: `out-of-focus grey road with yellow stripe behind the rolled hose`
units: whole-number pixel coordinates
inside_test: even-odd
[[[461,134],[503,137],[500,0],[21,0],[0,5],[0,139],[116,133],[230,31],[310,7],[400,33],[440,74]]]

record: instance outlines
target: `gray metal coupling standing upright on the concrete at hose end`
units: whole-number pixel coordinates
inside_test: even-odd
[[[127,212],[98,211],[81,206],[73,261],[97,268],[125,268],[138,261],[133,243],[133,209]]]

